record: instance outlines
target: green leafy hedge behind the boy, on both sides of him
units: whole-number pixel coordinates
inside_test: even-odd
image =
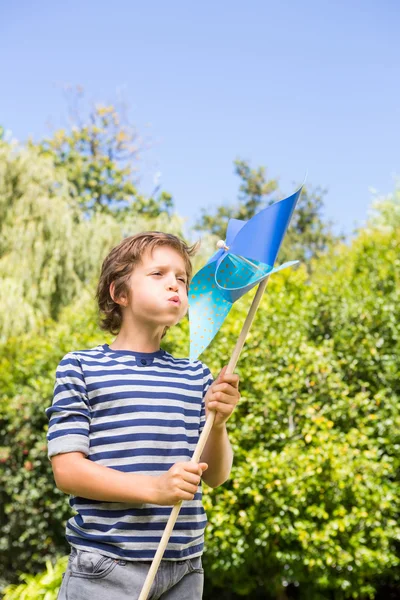
[[[206,596],[372,598],[398,584],[399,232],[361,233],[305,269],[271,279],[236,372],[229,481],[207,489]],[[202,360],[226,364],[251,296],[235,304]],[[188,323],[163,347],[188,353]],[[0,347],[3,575],[34,573],[67,551],[67,498],[46,457],[54,371],[103,343],[93,305],[35,338]],[[10,575],[11,574],[11,575]],[[326,595],[325,595],[326,594]]]

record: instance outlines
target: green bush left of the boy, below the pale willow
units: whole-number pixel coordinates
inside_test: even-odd
[[[44,409],[51,404],[55,368],[70,344],[96,345],[90,300],[84,294],[66,309],[62,324],[49,321],[36,337],[9,338],[0,346],[0,567],[9,576],[34,572],[67,552],[62,523],[70,509],[47,459]]]

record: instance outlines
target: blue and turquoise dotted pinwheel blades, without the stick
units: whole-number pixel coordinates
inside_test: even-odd
[[[226,241],[193,278],[189,289],[190,360],[205,350],[232,304],[264,279],[295,265],[274,267],[302,188],[249,221],[230,219]]]

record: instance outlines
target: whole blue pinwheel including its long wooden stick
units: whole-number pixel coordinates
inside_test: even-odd
[[[189,287],[190,361],[197,359],[213,340],[233,303],[258,284],[226,373],[235,370],[270,275],[298,263],[293,260],[274,266],[302,188],[267,206],[248,221],[229,220],[226,240],[217,243],[217,252],[194,276]],[[200,460],[214,419],[215,412],[210,410],[191,459],[193,462]],[[139,600],[148,597],[181,505],[179,502],[172,509]]]

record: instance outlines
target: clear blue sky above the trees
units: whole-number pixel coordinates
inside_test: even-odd
[[[120,94],[152,140],[144,191],[160,172],[189,224],[236,199],[242,157],[283,193],[308,171],[351,233],[400,173],[399,16],[396,0],[3,0],[0,123],[38,139],[67,122],[64,84]]]

